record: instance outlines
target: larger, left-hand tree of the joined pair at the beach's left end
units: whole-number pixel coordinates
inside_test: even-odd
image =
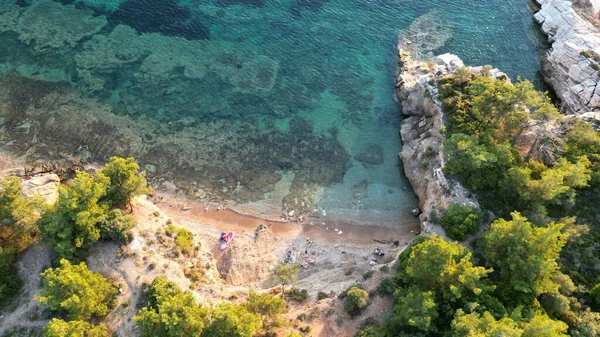
[[[98,201],[105,195],[108,178],[77,172],[70,185],[61,186],[54,208],[42,216],[42,238],[56,256],[81,259],[100,239],[99,224],[107,218],[107,208]]]

